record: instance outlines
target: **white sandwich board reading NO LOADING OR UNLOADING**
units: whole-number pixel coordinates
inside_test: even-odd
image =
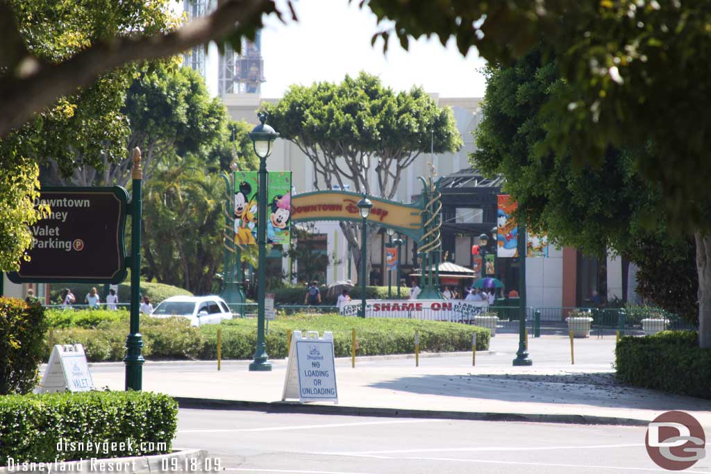
[[[323,338],[317,331],[307,331],[306,337],[301,337],[301,331],[292,333],[282,393],[282,400],[287,399],[338,404],[333,333],[326,332]]]

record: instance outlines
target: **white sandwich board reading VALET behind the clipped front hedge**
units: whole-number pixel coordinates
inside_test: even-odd
[[[35,393],[88,392],[94,389],[87,357],[81,344],[55,345]]]

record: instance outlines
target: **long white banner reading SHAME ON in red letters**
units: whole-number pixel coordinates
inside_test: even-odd
[[[358,316],[360,301],[343,303],[343,316]],[[465,300],[368,300],[366,318],[412,318],[468,323],[474,316],[488,313],[486,301]]]

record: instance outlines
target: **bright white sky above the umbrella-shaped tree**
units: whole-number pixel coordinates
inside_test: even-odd
[[[264,77],[262,97],[282,97],[289,85],[316,81],[341,82],[346,74],[365,70],[378,75],[394,90],[421,85],[440,97],[483,97],[486,87],[484,60],[471,49],[464,58],[454,40],[447,48],[438,39],[410,42],[410,50],[390,39],[386,55],[383,42],[370,45],[378,26],[368,8],[358,0],[296,0],[299,21],[287,24],[270,16],[262,32]],[[284,4],[277,2],[282,11]],[[287,14],[288,16],[288,14]]]

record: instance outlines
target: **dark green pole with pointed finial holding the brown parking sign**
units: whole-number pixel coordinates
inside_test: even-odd
[[[139,332],[140,298],[141,298],[141,185],[143,170],[141,168],[141,150],[136,147],[133,153],[134,166],[131,172],[133,190],[131,200],[131,320],[129,335],[126,338],[127,354],[124,357],[126,365],[126,390],[140,391],[143,385],[143,363],[141,355],[143,336]]]

